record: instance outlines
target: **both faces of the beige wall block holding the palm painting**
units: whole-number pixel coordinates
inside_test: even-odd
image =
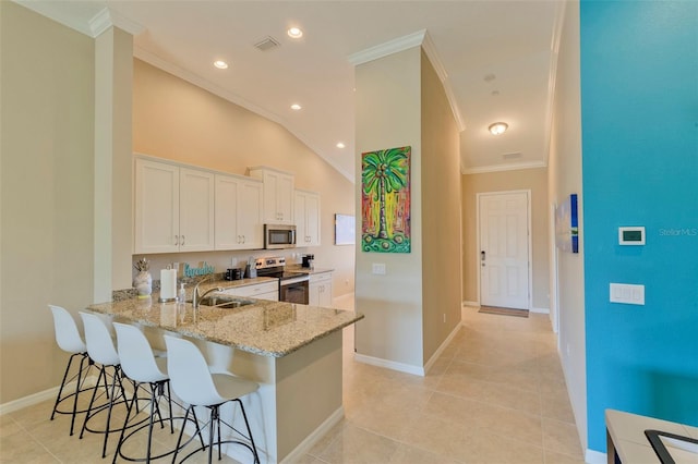
[[[453,260],[460,246],[458,131],[420,47],[358,65],[356,83],[357,151],[412,147],[411,253],[357,249],[356,306],[365,315],[356,329],[357,352],[420,373],[460,321],[460,265]],[[386,274],[373,274],[373,264],[385,264]]]

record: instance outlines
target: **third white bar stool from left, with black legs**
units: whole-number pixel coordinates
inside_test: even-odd
[[[127,418],[121,429],[121,436],[119,437],[119,444],[117,444],[117,451],[113,455],[113,462],[117,462],[117,457],[123,457],[127,461],[145,461],[149,463],[151,460],[164,457],[168,454],[172,454],[174,450],[168,451],[158,455],[151,455],[152,442],[153,442],[153,425],[155,415],[159,417],[160,428],[165,428],[163,414],[160,413],[159,400],[167,399],[169,405],[169,420],[170,420],[170,434],[174,434],[174,427],[172,425],[172,400],[170,395],[169,377],[167,375],[167,359],[164,357],[155,357],[153,349],[147,339],[139,330],[137,327],[128,323],[113,322],[113,328],[117,331],[117,346],[119,352],[119,359],[121,361],[121,369],[123,374],[133,382],[133,396],[129,402],[129,408],[127,411]],[[129,426],[131,419],[131,412],[133,405],[137,404],[137,401],[143,399],[139,398],[139,389],[147,384],[149,386],[149,400],[151,400],[151,413],[148,417],[141,419],[140,422]],[[167,389],[167,393],[165,392]],[[135,415],[134,415],[135,417]],[[145,422],[147,420],[147,424]],[[140,427],[137,427],[140,426]],[[125,435],[127,428],[134,428]],[[146,454],[143,459],[125,456],[122,453],[121,447],[131,438],[135,432],[141,429],[148,428],[148,439]],[[202,447],[203,447],[202,438]]]

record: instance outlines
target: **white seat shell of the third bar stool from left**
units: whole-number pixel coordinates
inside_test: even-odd
[[[155,362],[151,343],[137,327],[128,323],[112,322],[117,331],[117,346],[121,369],[137,382],[159,382],[167,380]]]

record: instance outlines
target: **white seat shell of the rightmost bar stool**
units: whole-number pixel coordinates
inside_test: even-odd
[[[220,404],[208,364],[198,347],[189,340],[165,335],[167,373],[174,393],[185,403],[195,405]]]

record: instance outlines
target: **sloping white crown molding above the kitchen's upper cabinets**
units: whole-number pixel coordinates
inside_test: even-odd
[[[137,58],[139,60],[145,61],[148,64],[154,65],[155,68],[158,68],[167,73],[172,74],[173,76],[177,76],[183,81],[189,82],[190,84],[193,84],[197,87],[201,87],[205,90],[210,91],[212,94],[228,100],[234,105],[238,105],[249,111],[252,111],[253,113],[256,113],[258,115],[261,115],[262,118],[266,118],[269,121],[274,121],[280,125],[282,125],[289,133],[291,133],[296,138],[298,138],[300,142],[302,142],[306,147],[309,147],[313,152],[315,152],[318,157],[321,157],[327,164],[329,164],[330,167],[333,167],[337,172],[339,172],[341,175],[344,175],[345,178],[347,178],[347,180],[349,182],[351,182],[352,184],[356,182],[354,180],[354,174],[353,172],[347,172],[344,169],[339,168],[339,166],[337,166],[337,163],[335,163],[332,158],[329,158],[328,156],[325,156],[324,152],[322,150],[318,150],[317,148],[315,148],[309,141],[308,137],[305,137],[303,134],[293,131],[291,129],[289,129],[289,126],[286,124],[286,121],[279,117],[276,113],[273,113],[270,111],[265,110],[264,108],[254,105],[253,102],[245,100],[244,98],[240,97],[239,95],[232,94],[230,91],[227,91],[225,89],[222,89],[221,87],[206,81],[205,78],[203,78],[202,76],[194,74],[190,71],[186,71],[176,64],[170,63],[169,61],[166,61],[164,59],[161,59],[160,57],[151,53],[149,51],[146,51],[144,49],[142,49],[141,47],[137,46],[133,46],[133,56],[135,58]]]

